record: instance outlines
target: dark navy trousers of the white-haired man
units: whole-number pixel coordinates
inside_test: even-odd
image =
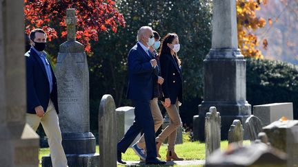
[[[133,122],[130,129],[128,129],[124,137],[117,144],[117,151],[125,153],[130,144],[135,140],[135,137],[143,130],[147,148],[146,162],[155,161],[157,158],[155,129],[149,101],[132,100],[133,104],[135,104],[135,122]]]

